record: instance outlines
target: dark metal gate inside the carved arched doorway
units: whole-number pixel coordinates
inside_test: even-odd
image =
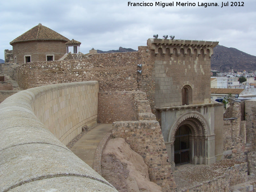
[[[175,133],[174,163],[181,165],[189,163],[189,130],[188,126],[181,125]]]

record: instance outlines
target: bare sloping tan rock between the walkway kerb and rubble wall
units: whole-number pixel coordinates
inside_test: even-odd
[[[119,192],[160,192],[148,178],[148,167],[123,138],[108,141],[102,155],[102,176]]]

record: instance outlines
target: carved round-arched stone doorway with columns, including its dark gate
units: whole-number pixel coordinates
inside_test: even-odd
[[[203,116],[197,112],[188,112],[181,116],[170,129],[168,144],[169,159],[176,164],[208,164],[208,126]],[[212,155],[211,155],[212,156]]]

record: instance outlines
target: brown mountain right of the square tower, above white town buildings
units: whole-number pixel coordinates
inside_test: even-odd
[[[213,48],[211,57],[211,69],[220,72],[234,71],[242,72],[256,70],[256,56],[249,55],[235,48],[217,45]]]

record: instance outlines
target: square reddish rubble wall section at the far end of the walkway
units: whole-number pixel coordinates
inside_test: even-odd
[[[99,92],[98,123],[133,121],[133,92]]]

